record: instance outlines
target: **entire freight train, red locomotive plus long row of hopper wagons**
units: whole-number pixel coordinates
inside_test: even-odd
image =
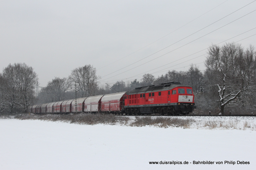
[[[132,91],[38,104],[31,113],[189,114],[196,109],[192,87],[179,82]]]

